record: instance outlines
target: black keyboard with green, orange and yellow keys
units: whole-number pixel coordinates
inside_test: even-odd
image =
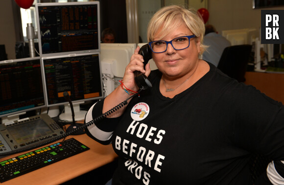
[[[89,150],[74,138],[1,161],[0,183]]]

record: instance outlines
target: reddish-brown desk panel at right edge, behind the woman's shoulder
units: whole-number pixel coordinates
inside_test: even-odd
[[[284,103],[284,74],[246,72],[245,84],[253,85],[270,98]]]

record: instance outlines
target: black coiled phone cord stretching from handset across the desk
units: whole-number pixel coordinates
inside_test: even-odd
[[[127,98],[125,101],[119,103],[117,106],[111,108],[110,110],[106,111],[105,113],[101,114],[100,116],[96,117],[94,120],[88,122],[88,123],[84,123],[83,125],[81,126],[78,126],[76,127],[75,129],[71,130],[70,132],[66,132],[60,136],[57,136],[55,138],[52,138],[48,141],[45,141],[43,143],[40,143],[40,144],[36,144],[36,145],[33,145],[33,146],[29,146],[29,147],[26,147],[26,148],[21,148],[21,149],[18,149],[18,150],[13,150],[13,151],[10,151],[10,152],[5,152],[5,153],[0,153],[0,156],[4,157],[4,156],[8,156],[8,155],[12,155],[12,154],[17,154],[17,153],[21,153],[21,152],[25,152],[25,151],[28,151],[28,150],[32,150],[32,149],[35,149],[35,148],[39,148],[39,147],[42,147],[42,146],[45,146],[47,144],[51,144],[53,142],[56,142],[58,140],[61,140],[61,139],[64,139],[66,138],[67,136],[70,136],[71,134],[75,133],[75,132],[78,132],[80,130],[82,130],[83,128],[86,129],[88,126],[91,126],[92,124],[95,124],[101,120],[103,120],[105,117],[111,115],[112,113],[116,112],[118,109],[122,108],[124,105],[128,104],[127,101],[131,98],[133,98],[134,96],[136,95],[139,95],[139,93],[143,90],[144,88],[142,88],[141,90],[138,91],[138,93],[132,95],[131,97]]]

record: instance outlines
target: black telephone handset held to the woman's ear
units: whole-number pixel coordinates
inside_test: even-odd
[[[145,65],[149,62],[150,59],[152,59],[152,52],[149,47],[149,44],[143,45],[138,54],[143,56],[144,59],[144,69]],[[147,89],[149,87],[152,87],[151,82],[147,79],[146,75],[141,73],[140,71],[134,71],[134,79],[135,83],[140,89]]]

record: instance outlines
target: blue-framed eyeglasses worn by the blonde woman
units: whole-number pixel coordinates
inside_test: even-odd
[[[167,44],[171,44],[175,50],[183,50],[189,47],[189,40],[195,35],[175,38],[171,41],[152,41],[149,42],[150,48],[154,53],[163,53],[167,49]]]

